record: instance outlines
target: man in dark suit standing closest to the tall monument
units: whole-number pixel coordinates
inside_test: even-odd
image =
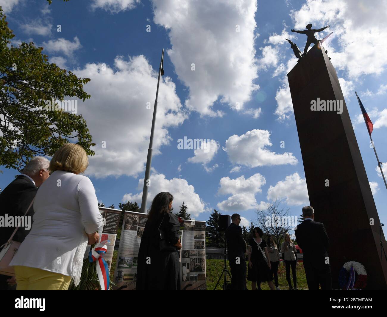
[[[304,221],[295,229],[298,246],[302,249],[309,290],[332,290],[330,260],[327,249],[329,238],[324,224],[314,221],[311,206],[302,208]]]

